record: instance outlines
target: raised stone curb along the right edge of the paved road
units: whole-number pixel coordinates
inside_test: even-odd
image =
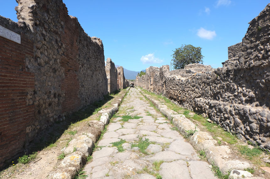
[[[189,142],[197,151],[205,151],[208,162],[219,167],[223,174],[227,174],[227,172],[232,170],[244,170],[245,168],[252,167],[248,161],[234,156],[233,151],[229,149],[228,146],[217,146],[218,142],[213,139],[210,133],[201,132],[200,129],[184,115],[176,114],[175,111],[168,109],[166,105],[154,100],[142,90],[140,90],[140,92],[149,99],[165,117],[173,122],[183,136],[188,136],[190,132],[195,131],[190,137]]]

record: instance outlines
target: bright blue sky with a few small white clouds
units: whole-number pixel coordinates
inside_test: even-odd
[[[17,22],[15,0],[0,15]],[[63,0],[84,31],[99,37],[105,60],[132,71],[169,65],[182,44],[202,47],[203,64],[222,67],[228,47],[242,41],[269,0]]]

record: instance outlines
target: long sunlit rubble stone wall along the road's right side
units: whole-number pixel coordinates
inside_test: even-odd
[[[154,82],[146,74],[136,84],[270,150],[269,43],[270,4],[250,22],[242,42],[228,48],[222,68],[192,64],[169,72],[162,66],[159,73],[152,68]]]

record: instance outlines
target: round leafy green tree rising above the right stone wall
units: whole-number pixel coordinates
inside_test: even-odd
[[[172,65],[174,69],[184,68],[185,65],[192,63],[202,63],[203,55],[201,54],[201,47],[194,47],[193,45],[182,45],[180,48],[176,48],[171,55]]]

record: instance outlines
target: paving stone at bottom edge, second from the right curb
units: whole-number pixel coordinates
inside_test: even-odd
[[[162,179],[190,179],[187,164],[182,160],[162,163],[159,174],[162,176]]]

